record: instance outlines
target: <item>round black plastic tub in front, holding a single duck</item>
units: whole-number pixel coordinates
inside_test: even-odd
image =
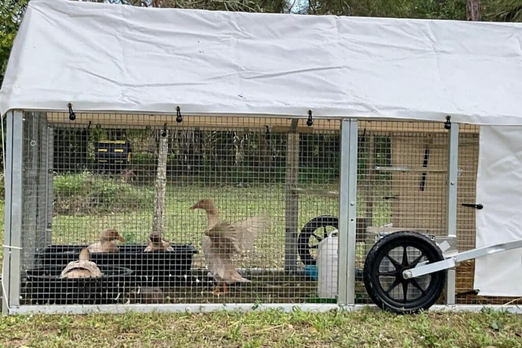
[[[27,271],[23,297],[32,304],[111,304],[123,298],[132,270],[98,266],[96,278],[61,278],[63,266],[43,266]]]

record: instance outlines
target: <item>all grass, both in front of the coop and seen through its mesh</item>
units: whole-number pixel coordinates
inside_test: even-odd
[[[202,212],[187,208],[201,197],[217,197],[223,217],[231,220],[264,211],[274,224],[244,260],[250,267],[281,267],[284,255],[284,188],[182,187],[167,193],[167,236],[199,247],[205,226]],[[240,202],[240,204],[238,204]],[[337,200],[303,196],[299,226],[335,213]],[[382,222],[386,221],[385,207]],[[0,204],[3,226],[4,204]],[[377,218],[379,219],[379,218]],[[53,218],[53,243],[88,243],[105,227],[120,229],[129,243],[145,243],[151,210]],[[0,235],[3,242],[3,233]],[[3,249],[0,250],[0,260]],[[257,255],[257,257],[256,257]],[[262,256],[261,258],[259,256]],[[257,260],[257,261],[256,261]],[[200,262],[196,261],[196,262]],[[257,262],[257,263],[256,263]],[[200,264],[199,266],[201,266]],[[522,316],[492,313],[423,313],[396,316],[381,311],[305,313],[277,310],[208,314],[136,314],[0,317],[0,346],[386,346],[522,347]]]

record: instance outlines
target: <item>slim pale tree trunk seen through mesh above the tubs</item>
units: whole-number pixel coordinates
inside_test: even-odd
[[[152,231],[163,235],[165,224],[165,187],[167,185],[167,154],[169,150],[169,137],[162,137],[159,130],[158,146],[158,170],[156,171],[156,182],[154,184],[154,213],[152,217]]]

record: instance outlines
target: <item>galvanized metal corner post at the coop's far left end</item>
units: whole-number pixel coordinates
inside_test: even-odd
[[[7,113],[4,265],[2,311],[20,304],[22,231],[23,122],[22,111]]]

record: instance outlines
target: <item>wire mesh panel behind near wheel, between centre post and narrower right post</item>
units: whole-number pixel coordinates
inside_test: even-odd
[[[434,238],[445,235],[448,133],[443,124],[360,122],[358,173],[358,253],[365,255],[383,236],[416,231]],[[407,260],[402,257],[407,255]],[[422,262],[413,247],[389,250],[379,267],[379,282],[389,296],[413,301],[430,284],[430,275],[404,289],[391,275],[397,262]],[[356,301],[369,303],[358,282]]]

